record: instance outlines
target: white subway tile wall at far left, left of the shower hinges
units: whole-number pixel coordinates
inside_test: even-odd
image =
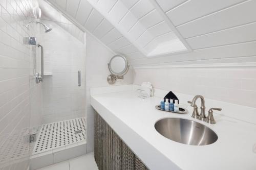
[[[23,37],[29,36],[31,7],[30,0],[0,1],[0,169],[25,170],[29,164],[33,59]]]

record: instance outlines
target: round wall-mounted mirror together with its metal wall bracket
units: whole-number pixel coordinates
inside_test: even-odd
[[[109,84],[114,84],[117,79],[123,79],[123,76],[129,70],[129,64],[125,57],[121,55],[115,55],[108,63],[111,75],[108,76]]]

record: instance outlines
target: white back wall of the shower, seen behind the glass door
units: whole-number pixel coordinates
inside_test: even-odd
[[[42,86],[42,123],[85,116],[85,66],[86,45],[63,30],[57,23],[42,20],[52,31],[45,33],[38,25],[37,41],[44,46],[45,76]],[[66,24],[67,25],[67,24]],[[72,25],[73,26],[73,25]],[[40,48],[37,48],[40,56]],[[40,61],[38,61],[40,72]],[[78,87],[78,70],[81,86]]]

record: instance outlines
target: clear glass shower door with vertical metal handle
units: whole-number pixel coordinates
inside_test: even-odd
[[[44,49],[44,79],[37,84],[31,80],[31,125],[37,134],[32,155],[54,153],[86,142],[86,46],[69,32],[76,28],[73,24],[49,18],[40,18],[40,22],[52,30],[46,32],[42,25],[33,26],[37,44]],[[38,45],[32,48],[33,73],[39,75],[40,50]]]

